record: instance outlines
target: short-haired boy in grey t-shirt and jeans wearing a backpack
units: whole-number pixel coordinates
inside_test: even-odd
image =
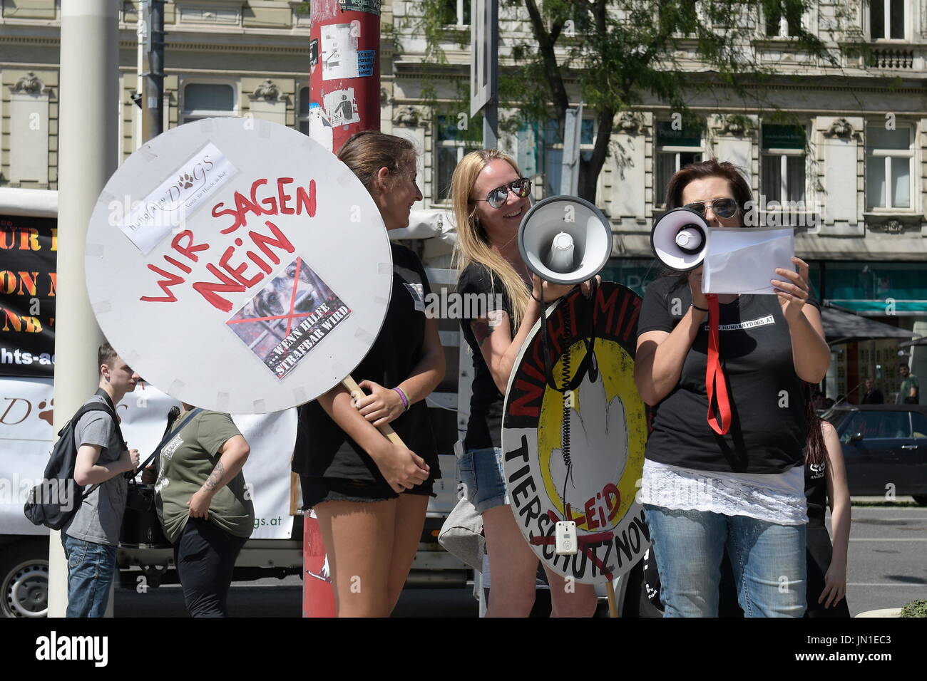
[[[102,617],[116,569],[116,548],[127,480],[138,467],[138,450],[122,439],[116,405],[140,380],[108,343],[99,347],[99,390],[84,404],[102,402],[106,410],[88,411],[74,426],[77,460],[74,482],[89,492],[61,529],[68,558],[68,617]]]

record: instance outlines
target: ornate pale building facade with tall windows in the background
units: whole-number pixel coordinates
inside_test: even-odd
[[[0,196],[15,188],[54,191],[60,0],[0,6]],[[121,97],[113,107],[121,116],[113,134],[123,159],[141,144],[141,119],[133,103],[140,85],[138,3],[120,6]],[[653,276],[649,233],[673,172],[705,158],[730,160],[750,179],[757,220],[796,227],[798,255],[812,264],[819,298],[927,335],[927,0],[822,0],[801,21],[833,39],[838,8],[848,21],[842,30],[870,42],[868,65],[806,63],[788,44],[787,20],[756,17],[758,57],[788,76],[776,84],[788,124],[723,90],[692,95],[689,107],[701,127],[680,127],[677,112],[647,98],[616,117],[596,198],[615,234],[611,278],[641,290]],[[422,4],[411,0],[382,3],[380,55],[381,129],[412,139],[423,152],[425,199],[407,235],[438,234],[422,242],[425,260],[438,267],[447,265],[452,244],[451,173],[479,147],[481,125],[461,95],[471,62],[469,0],[447,0],[444,9],[446,63],[426,63]],[[308,4],[296,1],[168,2],[165,127],[254,116],[308,132],[309,19]],[[523,16],[503,11],[501,69],[513,63],[507,44],[528,31]],[[700,69],[694,46],[682,57]],[[577,83],[567,86],[571,106],[578,105]],[[587,111],[583,153],[596,132],[595,112]],[[556,124],[522,125],[503,133],[500,146],[534,178],[537,197],[560,193],[564,145]],[[927,347],[899,348],[897,340],[835,345],[827,393],[857,401],[857,386],[874,376],[889,397],[898,388],[900,361],[927,375]]]

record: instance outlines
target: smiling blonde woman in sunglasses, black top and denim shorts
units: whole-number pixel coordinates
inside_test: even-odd
[[[573,288],[542,283],[521,257],[516,237],[530,208],[530,191],[531,181],[522,177],[514,159],[495,149],[467,154],[451,178],[461,269],[457,293],[485,302],[484,316],[461,320],[473,352],[474,379],[458,468],[467,498],[483,518],[492,574],[488,617],[525,617],[534,603],[538,557],[515,522],[506,494],[502,408],[519,350],[540,319],[540,300],[557,300]],[[554,616],[584,617],[595,611],[594,586],[567,583],[547,565],[544,569]]]

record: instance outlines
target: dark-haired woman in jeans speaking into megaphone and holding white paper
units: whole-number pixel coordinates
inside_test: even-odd
[[[714,159],[667,187],[667,208],[690,208],[710,227],[742,226],[750,201],[743,175]],[[705,296],[701,267],[647,287],[635,382],[654,417],[639,500],[667,617],[717,616],[725,548],[747,617],[805,612],[803,450],[817,420],[803,382],[823,379],[830,351],[808,266],[792,261],[798,271],[769,272],[775,296]],[[730,397],[717,403],[706,389],[715,306],[712,346]]]

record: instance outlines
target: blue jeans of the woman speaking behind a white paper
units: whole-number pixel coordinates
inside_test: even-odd
[[[644,504],[664,617],[717,617],[727,546],[744,617],[805,613],[805,525]]]

